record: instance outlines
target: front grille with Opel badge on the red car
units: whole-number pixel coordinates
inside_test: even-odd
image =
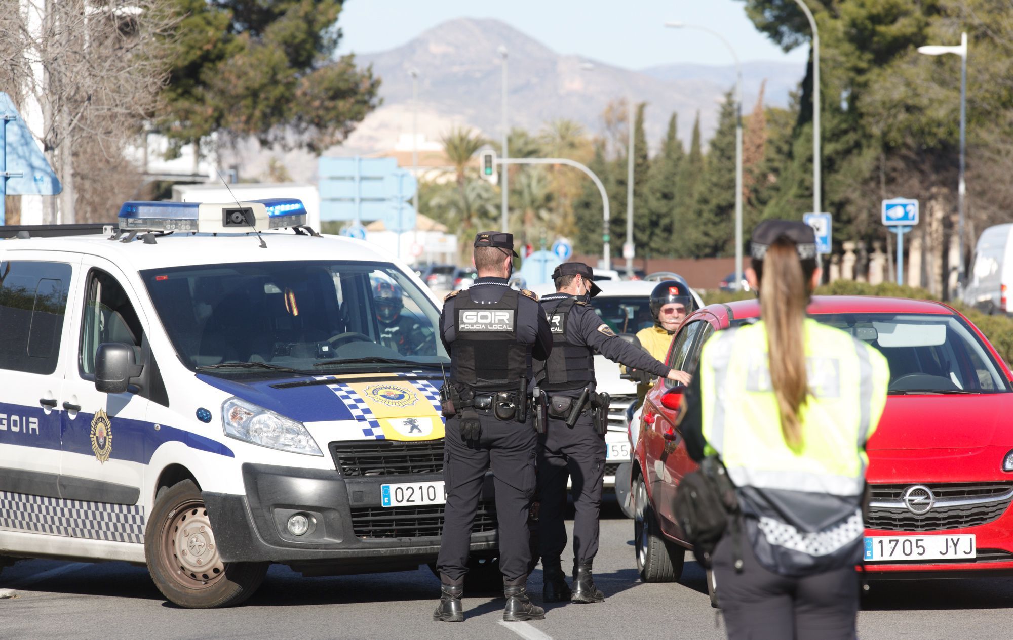
[[[910,484],[870,486],[872,501],[900,500]],[[925,485],[932,489],[937,500],[940,498],[965,498],[988,500],[1002,496],[1013,489],[1013,483],[961,482]],[[879,531],[927,532],[978,527],[995,522],[1009,508],[1011,498],[983,504],[953,505],[937,503],[928,512],[916,515],[905,509],[869,507],[865,526]]]

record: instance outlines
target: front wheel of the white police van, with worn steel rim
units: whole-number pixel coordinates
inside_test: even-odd
[[[222,561],[204,497],[192,480],[159,489],[144,537],[155,586],[186,609],[238,605],[253,594],[265,562]]]

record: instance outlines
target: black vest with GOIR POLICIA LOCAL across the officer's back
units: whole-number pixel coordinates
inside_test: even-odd
[[[504,288],[505,289],[505,288]],[[451,382],[485,391],[515,391],[529,376],[532,345],[518,338],[520,294],[506,289],[494,303],[454,297]]]

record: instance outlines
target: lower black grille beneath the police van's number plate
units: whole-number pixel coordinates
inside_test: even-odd
[[[352,528],[357,538],[437,538],[443,533],[444,505],[353,507]],[[496,530],[492,502],[479,502],[473,534]]]

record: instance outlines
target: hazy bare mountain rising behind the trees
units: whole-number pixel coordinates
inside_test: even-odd
[[[602,111],[611,101],[632,95],[646,101],[651,147],[665,134],[672,111],[679,114],[680,137],[689,143],[699,111],[706,140],[717,124],[718,104],[734,84],[726,66],[665,65],[640,71],[590,58],[560,55],[504,22],[459,18],[431,28],[396,49],[357,54],[383,79],[383,105],[360,125],[339,154],[388,150],[411,133],[411,76],[418,70],[418,132],[439,140],[453,125],[467,125],[487,137],[500,137],[501,57],[508,59],[511,127],[537,131],[558,117],[577,121],[589,132],[604,130]],[[590,63],[590,65],[589,65]],[[593,65],[593,70],[586,67]],[[787,103],[788,91],[804,74],[801,65],[750,62],[744,65],[744,112],[752,109],[760,81],[768,78],[766,102]]]

